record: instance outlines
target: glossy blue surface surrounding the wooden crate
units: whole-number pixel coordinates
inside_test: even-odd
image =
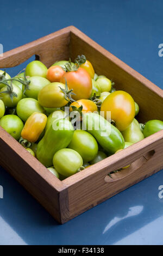
[[[162,8],[161,0],[5,0],[0,43],[8,51],[74,25],[163,89],[163,57],[158,56]],[[13,68],[10,74],[17,71]],[[163,199],[158,197],[162,170],[64,225],[2,168],[0,185],[1,245],[163,244]]]

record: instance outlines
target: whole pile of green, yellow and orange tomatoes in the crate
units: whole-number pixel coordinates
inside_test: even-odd
[[[34,60],[12,78],[0,70],[0,98],[0,125],[61,180],[163,129],[139,124],[133,97],[84,55],[49,69]]]

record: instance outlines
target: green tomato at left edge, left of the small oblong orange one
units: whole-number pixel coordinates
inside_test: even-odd
[[[21,137],[21,131],[24,125],[17,115],[4,115],[0,120],[0,125],[16,140]]]

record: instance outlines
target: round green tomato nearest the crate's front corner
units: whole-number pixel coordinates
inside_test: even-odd
[[[53,157],[53,166],[63,176],[71,176],[78,172],[83,164],[82,156],[73,149],[60,149]]]

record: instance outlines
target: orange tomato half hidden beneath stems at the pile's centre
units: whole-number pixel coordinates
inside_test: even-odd
[[[73,111],[72,106],[75,106],[79,108],[80,106],[83,106],[82,112],[87,113],[87,112],[95,112],[97,111],[97,106],[95,102],[91,100],[78,100],[77,102],[72,102],[70,105],[70,112]]]

